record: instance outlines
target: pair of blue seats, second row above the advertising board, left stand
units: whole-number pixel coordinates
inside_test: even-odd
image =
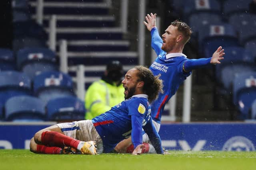
[[[33,81],[23,72],[0,72],[0,103],[12,96],[33,95],[44,105],[52,98],[74,96],[73,82],[68,74],[58,71],[42,72]]]

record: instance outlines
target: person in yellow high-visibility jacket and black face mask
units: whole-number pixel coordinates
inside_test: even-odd
[[[85,96],[85,119],[92,119],[124,100],[123,67],[119,61],[107,64],[101,80],[93,82]]]

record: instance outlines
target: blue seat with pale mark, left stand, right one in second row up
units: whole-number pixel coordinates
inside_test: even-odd
[[[34,78],[34,94],[45,104],[54,98],[74,96],[72,79],[58,71],[42,72]]]

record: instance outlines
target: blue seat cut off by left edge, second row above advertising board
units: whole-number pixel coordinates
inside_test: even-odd
[[[13,96],[31,95],[31,81],[26,74],[17,71],[0,72],[0,103]]]

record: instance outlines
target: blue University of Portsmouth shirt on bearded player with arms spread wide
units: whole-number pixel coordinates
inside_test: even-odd
[[[160,74],[160,79],[163,80],[163,94],[159,94],[158,98],[151,103],[152,119],[160,123],[162,112],[165,104],[176,93],[180,84],[191,74],[183,72],[182,66],[188,59],[182,53],[170,53],[161,49],[162,39],[156,28],[151,30],[152,48],[157,54],[157,58],[150,66],[150,70],[156,76]]]

